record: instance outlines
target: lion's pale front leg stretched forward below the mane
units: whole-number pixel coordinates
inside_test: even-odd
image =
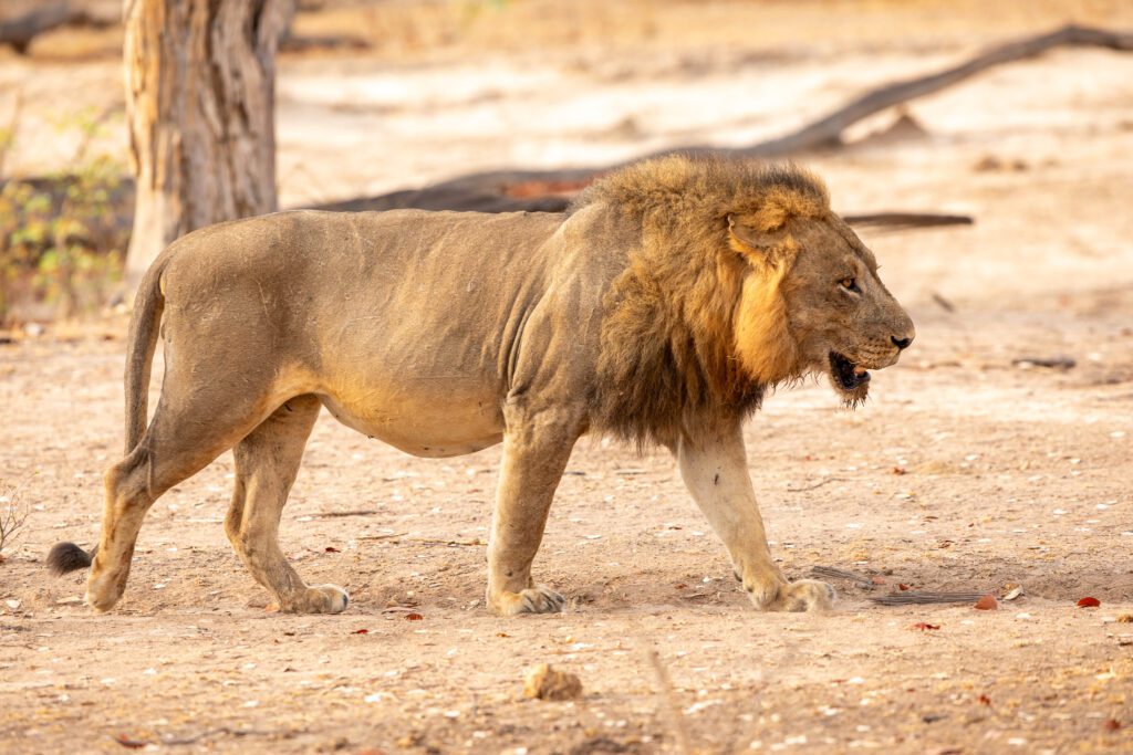
[[[748,474],[740,422],[704,429],[676,446],[681,475],[713,530],[724,541],[751,601],[769,611],[817,611],[830,607],[834,587],[825,582],[787,582],[767,548],[764,520]]]

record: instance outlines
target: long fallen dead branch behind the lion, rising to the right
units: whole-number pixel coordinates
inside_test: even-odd
[[[1133,50],[1133,34],[1109,32],[1083,26],[1066,26],[1056,32],[1008,42],[987,50],[964,63],[937,74],[886,84],[855,97],[845,105],[804,126],[803,128],[767,141],[747,147],[718,148],[709,145],[671,147],[661,152],[641,155],[637,160],[663,154],[715,154],[742,157],[782,157],[789,154],[837,146],[846,128],[864,118],[900,105],[910,100],[959,84],[971,76],[994,66],[1033,58],[1047,50],[1059,46],[1099,46],[1109,50]],[[636,162],[636,161],[630,161]],[[602,173],[617,165],[565,169],[555,171],[492,171],[459,177],[443,183],[416,191],[394,191],[376,197],[361,197],[321,205],[320,209],[463,209],[480,212],[545,211],[561,212],[570,200],[563,192],[537,196],[521,189],[534,185],[586,186]],[[851,223],[884,225],[887,228],[912,229],[929,225],[952,225],[971,223],[965,216],[937,216],[929,213],[878,213],[854,217]]]

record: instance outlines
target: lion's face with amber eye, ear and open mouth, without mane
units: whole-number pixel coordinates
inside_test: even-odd
[[[778,283],[777,300],[760,292],[755,297],[764,301],[741,303],[741,355],[743,310],[763,320],[761,329],[778,320],[780,338],[792,344],[781,355],[781,368],[790,366],[784,371],[824,372],[847,404],[863,401],[869,370],[895,363],[915,336],[909,315],[881,283],[872,252],[834,215],[794,217],[758,237],[742,225],[733,232],[759,252],[753,264],[767,276],[759,289]]]

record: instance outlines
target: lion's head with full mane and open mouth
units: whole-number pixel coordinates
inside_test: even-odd
[[[912,342],[874,255],[806,171],[672,155],[604,177],[571,212],[593,205],[632,244],[605,302],[602,429],[670,443],[815,372],[855,405],[868,370]]]

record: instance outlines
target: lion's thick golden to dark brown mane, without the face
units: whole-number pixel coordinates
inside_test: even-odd
[[[611,173],[568,214],[604,206],[636,242],[603,303],[595,430],[672,444],[712,417],[759,406],[768,383],[741,367],[735,316],[753,274],[729,246],[727,215],[828,212],[826,188],[792,165],[680,155]],[[776,281],[767,282],[775,294]]]

